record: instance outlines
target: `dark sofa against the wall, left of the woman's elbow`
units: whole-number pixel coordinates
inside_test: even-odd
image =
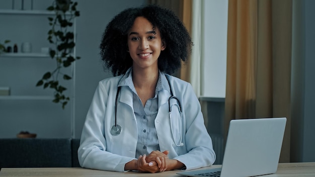
[[[0,168],[80,167],[77,149],[80,139],[0,139]]]

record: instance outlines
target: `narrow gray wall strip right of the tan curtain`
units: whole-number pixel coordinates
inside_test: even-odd
[[[293,1],[292,161],[315,161],[315,1]]]

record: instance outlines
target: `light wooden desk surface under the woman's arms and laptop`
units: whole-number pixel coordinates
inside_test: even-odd
[[[221,165],[212,165],[199,169],[216,168]],[[113,172],[86,168],[2,168],[0,176],[181,176],[174,171],[161,173],[139,173],[134,171]],[[277,173],[270,176],[315,176],[315,162],[305,163],[279,163]]]

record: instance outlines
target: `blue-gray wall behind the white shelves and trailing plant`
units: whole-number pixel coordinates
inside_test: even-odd
[[[34,10],[45,10],[52,0],[33,0]],[[15,0],[15,9],[21,9],[21,0]],[[26,4],[29,0],[24,1]],[[100,62],[99,44],[107,23],[120,11],[144,5],[145,0],[101,1],[79,0],[81,16],[76,20],[74,131],[71,133],[71,103],[65,110],[51,100],[3,100],[0,99],[0,138],[14,138],[20,131],[36,133],[38,138],[80,138],[82,127],[98,81],[109,77]],[[0,9],[12,9],[12,0],[0,1]],[[25,6],[30,9],[30,6]],[[21,18],[22,17],[22,18]],[[29,41],[33,52],[49,46],[46,38],[49,30],[46,16],[0,15],[0,41],[11,40],[10,45]],[[0,87],[10,86],[11,95],[52,96],[51,90],[35,87],[42,74],[55,65],[49,58],[0,58]],[[70,72],[70,71],[69,71]],[[71,82],[66,83],[68,94]]]

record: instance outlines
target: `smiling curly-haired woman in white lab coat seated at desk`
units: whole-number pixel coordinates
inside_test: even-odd
[[[82,167],[159,172],[213,164],[192,86],[166,74],[191,46],[181,21],[157,6],[127,9],[107,25],[101,55],[119,76],[96,89],[78,149]]]

